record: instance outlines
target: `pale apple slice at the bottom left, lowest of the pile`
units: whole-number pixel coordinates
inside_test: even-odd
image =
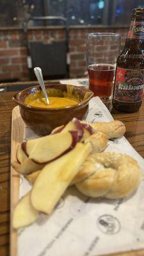
[[[38,211],[31,205],[30,192],[23,196],[13,212],[13,228],[30,225],[38,218]]]

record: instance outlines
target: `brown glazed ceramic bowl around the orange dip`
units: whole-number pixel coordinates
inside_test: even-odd
[[[67,124],[74,117],[80,120],[86,117],[88,102],[92,98],[93,92],[70,84],[47,84],[45,88],[49,96],[68,96],[78,100],[79,103],[76,106],[68,106],[67,108],[37,108],[24,104],[24,100],[29,94],[41,90],[40,86],[32,86],[16,93],[13,96],[13,100],[20,106],[20,115],[25,124],[29,125],[36,134],[49,134],[52,129]]]

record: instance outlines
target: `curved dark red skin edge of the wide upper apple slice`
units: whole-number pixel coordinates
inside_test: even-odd
[[[36,164],[48,164],[51,163],[52,161],[58,159],[59,157],[67,154],[70,150],[72,150],[74,147],[76,147],[77,142],[79,142],[79,136],[78,136],[78,132],[77,131],[69,131],[70,134],[72,134],[72,144],[70,145],[69,148],[67,148],[67,150],[65,150],[62,154],[60,154],[60,156],[57,156],[55,158],[53,158],[50,161],[47,162],[43,162],[43,163],[39,163],[38,161],[35,161],[35,159],[31,159],[33,162],[35,162]]]

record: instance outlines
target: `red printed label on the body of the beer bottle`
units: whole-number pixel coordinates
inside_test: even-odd
[[[144,69],[116,68],[113,99],[120,102],[139,102],[143,97]]]

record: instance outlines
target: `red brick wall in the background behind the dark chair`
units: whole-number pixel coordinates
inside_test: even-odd
[[[114,32],[122,34],[122,46],[127,35],[127,28],[70,27],[69,56],[70,77],[83,77],[86,71],[86,35],[92,32]],[[27,67],[27,49],[22,29],[0,29],[0,81],[18,79],[29,80]],[[65,39],[65,30],[61,27],[29,29],[29,42],[42,41],[45,44],[60,42]]]

